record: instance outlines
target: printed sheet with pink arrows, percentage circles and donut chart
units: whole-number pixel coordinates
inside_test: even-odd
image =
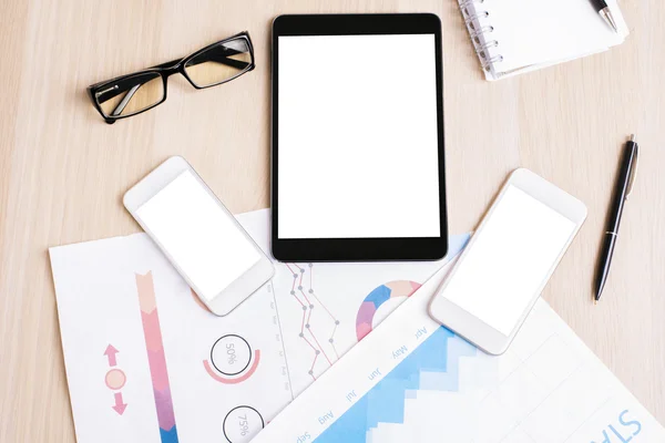
[[[50,256],[78,443],[248,442],[444,264],[275,264],[221,318],[145,234]]]

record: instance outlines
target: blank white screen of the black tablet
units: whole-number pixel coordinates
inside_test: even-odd
[[[278,238],[441,235],[434,43],[278,37]]]

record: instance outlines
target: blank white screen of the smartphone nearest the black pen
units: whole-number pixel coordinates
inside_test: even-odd
[[[510,336],[575,230],[573,220],[509,185],[443,298]]]

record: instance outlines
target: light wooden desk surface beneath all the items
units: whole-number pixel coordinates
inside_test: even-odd
[[[47,248],[135,233],[121,196],[170,155],[232,210],[268,206],[269,39],[280,13],[436,12],[443,23],[452,233],[472,229],[525,166],[576,195],[589,219],[544,297],[665,424],[665,3],[624,0],[622,47],[488,83],[453,0],[139,2],[3,0],[0,14],[0,442],[73,442]],[[257,69],[106,125],[85,86],[242,30]],[[625,137],[642,147],[602,302],[591,287]]]

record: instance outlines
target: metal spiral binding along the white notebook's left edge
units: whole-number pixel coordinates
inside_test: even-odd
[[[490,52],[491,49],[499,47],[498,40],[489,40],[489,34],[494,32],[494,27],[480,23],[481,19],[490,17],[490,13],[483,11],[481,7],[485,1],[491,0],[459,0],[459,4],[480,64],[484,71],[491,71],[494,63],[503,61],[503,55],[495,51]]]

